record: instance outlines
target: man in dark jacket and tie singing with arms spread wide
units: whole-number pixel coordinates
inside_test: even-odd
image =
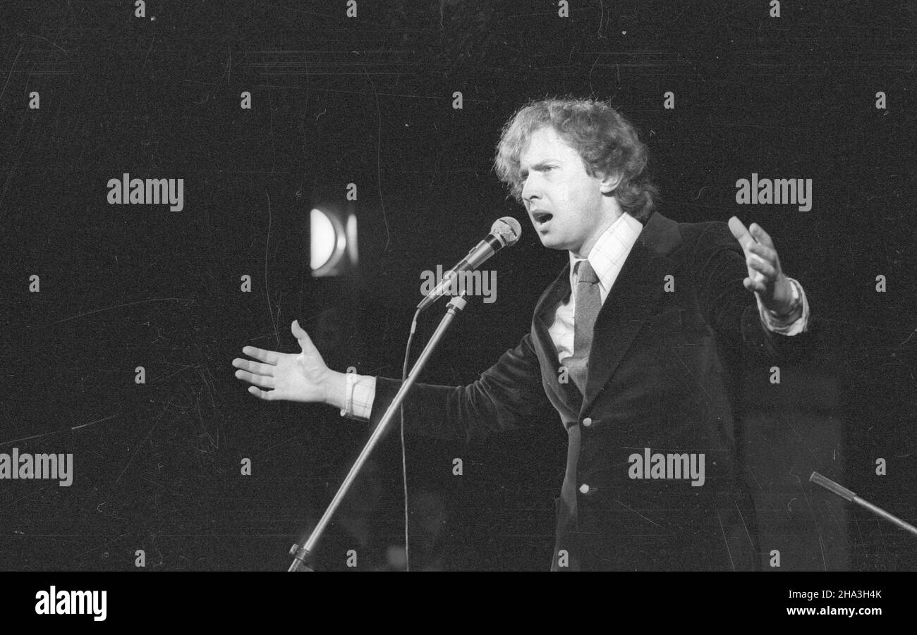
[[[655,212],[646,161],[634,127],[601,101],[533,102],[503,127],[497,175],[569,266],[481,378],[416,385],[405,429],[477,438],[525,426],[547,397],[569,436],[552,570],[755,570],[733,373],[744,353],[777,360],[799,345],[809,305],[757,224]],[[258,361],[233,360],[249,392],[378,422],[400,382],[348,385],[292,331],[300,355],[246,346]]]

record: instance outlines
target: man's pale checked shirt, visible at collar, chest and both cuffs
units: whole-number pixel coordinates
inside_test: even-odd
[[[570,289],[576,289],[577,263],[588,259],[592,270],[599,279],[599,294],[602,304],[612,290],[614,280],[618,278],[624,260],[630,254],[631,248],[636,243],[637,237],[643,231],[643,224],[629,213],[622,213],[608,229],[602,232],[595,245],[592,246],[587,258],[578,258],[570,252]],[[795,279],[790,278],[793,299],[802,300],[801,315],[793,322],[781,322],[773,312],[768,311],[761,299],[755,294],[757,309],[761,321],[773,333],[784,335],[800,334],[806,329],[809,322],[809,302],[805,297],[805,290]],[[576,294],[570,293],[569,300],[558,304],[554,313],[554,323],[548,328],[551,341],[558,350],[558,362],[573,355],[573,316],[576,314]],[[372,401],[376,395],[376,378],[369,375],[358,375],[353,385],[353,396],[350,403],[352,418],[369,419],[372,411]]]

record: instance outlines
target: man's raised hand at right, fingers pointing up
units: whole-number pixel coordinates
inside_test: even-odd
[[[746,255],[748,277],[743,280],[747,290],[754,291],[769,310],[785,315],[790,312],[793,292],[783,270],[770,236],[760,225],[752,223],[748,229],[736,216],[729,219],[729,229],[739,241]]]

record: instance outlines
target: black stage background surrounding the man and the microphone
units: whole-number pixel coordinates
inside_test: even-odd
[[[574,0],[561,18],[547,0],[359,0],[348,18],[338,0],[187,0],[138,18],[126,2],[4,3],[0,452],[73,453],[75,475],[0,481],[0,568],[133,570],[142,549],[148,570],[285,569],[369,431],[254,399],[232,358],[298,352],[298,319],[330,367],[400,376],[420,272],[510,214],[524,234],[487,265],[497,301],[472,301],[425,373],[477,378],[567,258],[506,197],[493,148],[527,100],[568,93],[634,122],[661,213],[761,224],[806,289],[812,356],[779,386],[767,367],[744,377],[739,436],[778,570],[917,568],[917,539],[808,482],[817,470],[917,522],[917,12],[881,6]],[[123,172],[184,179],[184,209],[109,205]],[[736,205],[752,172],[812,179],[812,210]],[[359,270],[311,278],[311,202],[350,182]],[[408,439],[413,567],[546,570],[564,443],[551,411],[470,447]],[[348,549],[385,566],[401,478],[394,433],[317,566],[346,569]]]

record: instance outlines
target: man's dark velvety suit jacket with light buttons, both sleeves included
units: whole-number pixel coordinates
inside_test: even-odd
[[[584,395],[560,381],[547,331],[570,292],[568,265],[518,346],[469,386],[417,385],[405,427],[471,439],[525,425],[547,395],[569,434],[554,570],[757,569],[754,510],[736,459],[734,369],[743,351],[776,361],[811,335],[770,333],[742,284],[746,272],[725,223],[654,213],[596,320]],[[370,421],[399,383],[377,379]],[[633,477],[630,457],[646,448],[703,454],[703,485]]]

